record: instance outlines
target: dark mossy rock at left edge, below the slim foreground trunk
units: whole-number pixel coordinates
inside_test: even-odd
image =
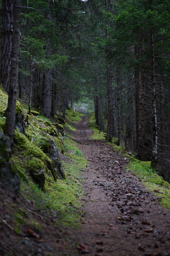
[[[15,192],[20,191],[20,177],[17,173],[15,163],[11,158],[10,143],[3,131],[0,129],[0,176],[5,186]]]

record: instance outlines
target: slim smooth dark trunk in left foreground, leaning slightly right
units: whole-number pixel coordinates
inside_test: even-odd
[[[13,35],[12,35],[12,53],[11,53],[11,69],[10,84],[8,91],[7,105],[7,136],[10,143],[13,143],[15,116],[16,116],[16,93],[18,84],[18,63],[19,63],[19,40],[20,40],[20,0],[14,0],[13,4]]]

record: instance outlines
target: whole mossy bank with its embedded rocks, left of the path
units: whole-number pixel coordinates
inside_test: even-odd
[[[0,90],[0,127],[5,132],[5,110],[7,94]],[[22,111],[26,136],[15,131],[12,160],[21,177],[21,193],[28,200],[34,201],[35,207],[46,216],[57,212],[54,225],[79,226],[81,210],[82,170],[88,165],[76,143],[63,136],[63,126],[56,119],[47,119],[32,108],[28,115],[28,106],[17,101],[17,111]],[[17,113],[16,113],[17,114]],[[66,126],[75,130],[71,125],[81,120],[82,114],[71,108],[66,111]],[[51,147],[58,147],[62,156],[62,168],[65,176],[59,178],[54,170],[50,155]],[[12,207],[12,206],[11,206]],[[21,233],[22,212],[15,211],[13,206],[14,229]],[[31,220],[30,220],[31,221]],[[23,225],[30,226],[24,222]],[[33,221],[33,220],[32,220]],[[38,225],[38,223],[37,223]],[[36,225],[35,225],[36,226]]]

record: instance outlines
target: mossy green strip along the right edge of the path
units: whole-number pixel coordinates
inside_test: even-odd
[[[94,132],[92,139],[106,139],[106,133],[100,132],[100,129],[96,124],[94,113],[89,116],[89,126]],[[112,145],[117,153],[129,161],[126,169],[129,172],[135,172],[144,186],[157,195],[160,204],[163,207],[170,209],[170,184],[163,180],[163,178],[158,175],[157,171],[151,169],[151,162],[139,161],[122,145],[116,145],[116,142],[117,138],[113,138],[112,143],[107,142],[107,144]]]

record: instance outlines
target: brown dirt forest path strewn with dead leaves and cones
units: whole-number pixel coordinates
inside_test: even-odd
[[[88,255],[96,256],[170,255],[169,209],[160,206],[135,173],[124,169],[126,158],[104,140],[90,139],[88,116],[76,128],[75,140],[89,161],[82,174],[82,229],[74,231],[81,243],[77,254],[88,249]]]

